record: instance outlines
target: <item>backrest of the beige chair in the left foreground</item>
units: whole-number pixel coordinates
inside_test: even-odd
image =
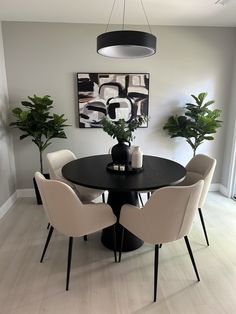
[[[74,190],[63,182],[45,179],[40,172],[35,179],[50,224],[65,235],[79,236],[86,210]]]

